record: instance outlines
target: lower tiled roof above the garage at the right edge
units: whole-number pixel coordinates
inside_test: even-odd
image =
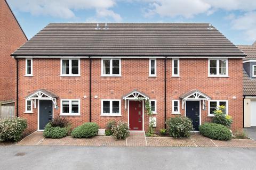
[[[256,80],[250,79],[244,70],[243,94],[245,96],[256,96]]]

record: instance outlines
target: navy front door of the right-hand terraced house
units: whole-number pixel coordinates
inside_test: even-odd
[[[194,130],[198,131],[200,124],[200,101],[186,101],[186,116],[191,118]]]

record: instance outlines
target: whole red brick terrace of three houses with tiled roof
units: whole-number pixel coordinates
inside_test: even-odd
[[[243,128],[245,54],[208,23],[51,23],[12,56],[27,132],[53,116],[74,127],[123,120],[147,131],[145,99],[156,130],[185,115],[197,131],[219,105],[233,130]]]

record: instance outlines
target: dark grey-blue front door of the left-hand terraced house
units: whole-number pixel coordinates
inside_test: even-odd
[[[45,125],[52,120],[52,101],[39,100],[39,130],[44,130]]]

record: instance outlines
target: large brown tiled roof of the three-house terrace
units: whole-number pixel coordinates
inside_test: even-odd
[[[51,23],[12,56],[245,56],[209,23]]]

